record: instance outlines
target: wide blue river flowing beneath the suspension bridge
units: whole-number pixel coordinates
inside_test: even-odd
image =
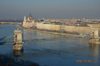
[[[0,38],[14,34],[17,26],[0,24]],[[62,35],[40,31],[22,30],[23,40],[61,38]],[[13,41],[11,38],[5,41]],[[100,46],[88,44],[86,38],[24,43],[24,51],[18,57],[12,50],[13,44],[0,45],[0,54],[13,58],[22,58],[39,63],[40,66],[99,66]],[[78,62],[79,60],[79,62]]]

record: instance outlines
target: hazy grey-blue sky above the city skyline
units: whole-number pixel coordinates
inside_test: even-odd
[[[100,0],[0,0],[0,19],[100,19]]]

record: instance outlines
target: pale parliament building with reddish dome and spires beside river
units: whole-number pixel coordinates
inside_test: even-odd
[[[29,14],[28,18],[26,19],[26,16],[24,16],[23,20],[23,27],[30,28],[34,26],[34,19],[32,18],[31,14]]]

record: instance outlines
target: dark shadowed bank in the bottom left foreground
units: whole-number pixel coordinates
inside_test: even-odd
[[[31,61],[15,60],[14,58],[0,54],[0,66],[39,66]]]

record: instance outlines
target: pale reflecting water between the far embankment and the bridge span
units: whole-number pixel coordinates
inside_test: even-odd
[[[57,34],[48,34],[46,32],[37,32],[37,31],[23,31],[23,39],[24,40],[32,40],[32,39],[50,39],[61,37]]]

